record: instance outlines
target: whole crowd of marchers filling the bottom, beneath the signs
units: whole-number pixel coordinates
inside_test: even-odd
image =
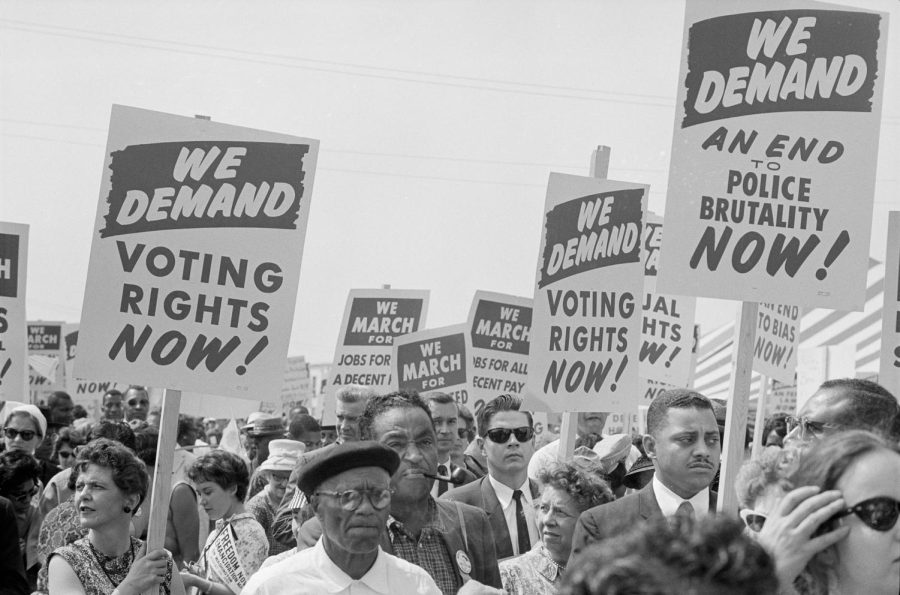
[[[147,390],[110,391],[99,420],[62,392],[0,403],[0,594],[900,592],[900,405],[874,382],[771,416],[728,486],[723,407],[687,389],[653,399],[644,435],[579,413],[568,458],[512,395],[473,414],[351,385],[335,404],[331,427],[302,407],[181,416],[147,551]]]

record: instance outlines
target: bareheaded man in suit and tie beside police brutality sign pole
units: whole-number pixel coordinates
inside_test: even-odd
[[[719,468],[722,447],[709,399],[687,389],[660,393],[647,410],[647,432],[644,450],[653,461],[653,479],[637,493],[581,513],[570,561],[591,543],[647,519],[715,512],[716,494],[709,484]]]

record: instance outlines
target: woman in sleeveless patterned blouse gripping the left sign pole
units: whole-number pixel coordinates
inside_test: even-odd
[[[147,469],[118,442],[100,438],[78,454],[75,503],[87,537],[50,554],[54,595],[140,595],[162,586],[182,595],[184,586],[163,549],[144,553],[131,536],[131,518],[147,495]]]

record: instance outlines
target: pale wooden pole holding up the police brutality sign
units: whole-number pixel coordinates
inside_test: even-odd
[[[747,411],[750,409],[750,378],[753,375],[753,342],[759,304],[741,302],[739,323],[735,327],[734,353],[731,356],[730,399],[725,415],[725,444],[719,471],[719,499],[716,512],[737,517],[737,493],[734,480],[744,461],[744,439],[747,435]]]

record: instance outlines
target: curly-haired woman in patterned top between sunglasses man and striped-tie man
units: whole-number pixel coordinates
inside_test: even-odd
[[[557,463],[541,470],[543,486],[535,520],[541,539],[530,551],[500,562],[503,588],[513,595],[556,593],[572,553],[578,516],[615,497],[598,476],[601,468]]]

